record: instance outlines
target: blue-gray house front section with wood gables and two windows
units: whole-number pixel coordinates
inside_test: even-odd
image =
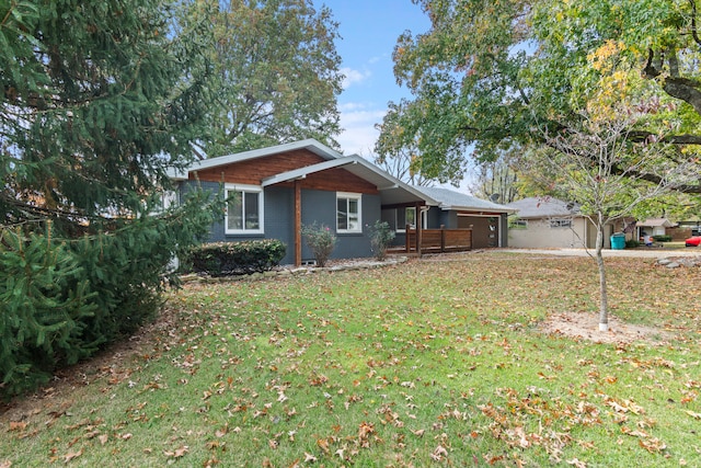
[[[313,260],[300,229],[312,222],[336,232],[332,258],[370,256],[367,226],[383,210],[440,203],[359,156],[343,156],[312,139],[198,161],[172,173],[179,196],[194,186],[233,195],[210,241],[279,239],[283,263]],[[424,208],[426,209],[426,208]]]

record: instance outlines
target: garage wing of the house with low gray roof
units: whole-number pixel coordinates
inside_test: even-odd
[[[472,248],[506,247],[508,244],[508,214],[515,209],[493,202],[441,187],[414,186],[426,197],[437,202],[420,213],[423,229],[472,228]],[[387,207],[382,220],[397,230],[395,244],[404,243],[406,225],[415,227],[415,207]]]

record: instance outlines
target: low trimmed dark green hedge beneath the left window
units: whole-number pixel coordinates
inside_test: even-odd
[[[212,276],[268,271],[285,258],[287,247],[277,239],[211,242],[193,248],[188,262],[193,271]]]

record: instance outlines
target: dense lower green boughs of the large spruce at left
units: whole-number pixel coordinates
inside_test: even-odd
[[[35,389],[157,316],[168,263],[211,224],[198,196],[162,216],[108,219],[79,238],[58,221],[0,225],[0,399]]]

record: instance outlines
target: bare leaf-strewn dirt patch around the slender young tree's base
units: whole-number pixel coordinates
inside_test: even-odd
[[[658,328],[624,323],[611,316],[609,316],[609,331],[599,331],[598,315],[583,312],[554,313],[545,319],[541,329],[545,333],[562,334],[595,343],[639,341],[648,344],[666,344],[674,338],[671,333]]]

